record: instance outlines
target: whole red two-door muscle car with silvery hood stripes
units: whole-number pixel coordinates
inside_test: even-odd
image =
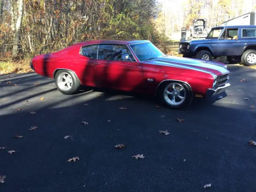
[[[55,79],[63,94],[81,85],[155,94],[170,108],[188,106],[194,97],[223,92],[225,64],[163,54],[147,40],[92,40],[36,56],[31,68]]]

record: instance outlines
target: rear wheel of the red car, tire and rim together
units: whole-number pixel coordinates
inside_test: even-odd
[[[68,70],[57,71],[55,75],[55,84],[58,90],[66,95],[75,94],[79,91],[81,86],[74,73]]]

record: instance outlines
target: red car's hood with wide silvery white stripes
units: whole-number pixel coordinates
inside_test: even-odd
[[[176,56],[158,57],[154,60],[147,61],[147,63],[197,70],[209,74],[214,73],[216,75],[229,73],[229,70],[225,67],[226,65],[222,63],[191,58],[181,58]]]

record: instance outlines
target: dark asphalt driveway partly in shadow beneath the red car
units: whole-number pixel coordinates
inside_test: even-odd
[[[67,96],[35,73],[1,75],[0,192],[256,192],[256,71],[228,68],[222,99],[185,110],[117,92]]]

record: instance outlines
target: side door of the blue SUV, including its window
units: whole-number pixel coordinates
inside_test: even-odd
[[[238,28],[226,28],[218,42],[218,56],[237,56]]]

